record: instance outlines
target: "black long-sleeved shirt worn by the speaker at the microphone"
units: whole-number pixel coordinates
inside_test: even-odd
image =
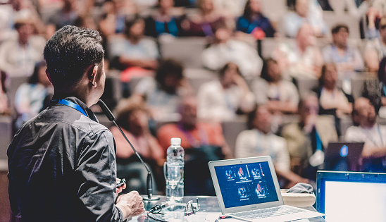
[[[23,221],[123,221],[116,200],[116,147],[111,132],[55,104],[16,132],[8,147],[9,198]]]

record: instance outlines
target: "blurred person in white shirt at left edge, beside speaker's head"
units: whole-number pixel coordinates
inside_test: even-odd
[[[0,45],[0,69],[10,76],[30,76],[35,63],[43,59],[46,40],[33,35],[34,25],[28,17],[16,20],[15,30],[18,38]]]

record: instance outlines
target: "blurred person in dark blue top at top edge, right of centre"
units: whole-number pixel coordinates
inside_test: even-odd
[[[245,4],[244,13],[236,20],[236,35],[240,33],[251,34],[263,31],[265,37],[273,37],[275,29],[270,20],[261,12],[261,0],[248,0]]]

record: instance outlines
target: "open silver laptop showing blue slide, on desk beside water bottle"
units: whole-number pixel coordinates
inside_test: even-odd
[[[294,221],[323,216],[283,204],[270,156],[210,161],[221,213],[242,221]]]

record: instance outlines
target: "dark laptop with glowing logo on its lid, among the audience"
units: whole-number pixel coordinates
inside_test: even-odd
[[[327,171],[360,171],[364,142],[330,142],[325,149],[324,169]]]

